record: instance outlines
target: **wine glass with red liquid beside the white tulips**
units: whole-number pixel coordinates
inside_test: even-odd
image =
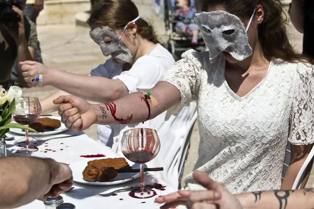
[[[13,114],[13,118],[15,122],[28,126],[34,123],[40,116],[41,113],[41,105],[39,103],[39,99],[37,97],[22,97],[23,102],[21,103],[22,108],[25,110],[25,114],[17,115]],[[36,152],[38,150],[37,147],[29,146],[29,131],[25,130],[25,147],[18,150],[17,153],[30,153]]]

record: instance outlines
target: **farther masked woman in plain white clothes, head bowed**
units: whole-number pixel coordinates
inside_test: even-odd
[[[41,101],[45,113],[57,110],[52,101],[60,95],[72,94],[107,103],[129,93],[150,89],[174,64],[171,53],[159,44],[152,26],[139,17],[138,9],[131,0],[102,0],[92,10],[88,24],[91,27],[90,37],[105,56],[112,56],[92,70],[90,76],[51,69],[37,62],[22,63],[23,75],[30,85],[52,85],[63,90]],[[156,129],[161,140],[160,155],[147,166],[164,167],[163,172],[156,172],[157,177],[177,188],[178,151],[184,143],[184,134],[192,116],[189,108],[185,108],[177,117],[165,122],[165,114],[144,124],[98,126],[97,133],[99,141],[122,155],[120,142],[123,131],[131,128]]]

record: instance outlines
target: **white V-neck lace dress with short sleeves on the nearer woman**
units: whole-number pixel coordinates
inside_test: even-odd
[[[200,146],[194,170],[209,174],[232,193],[279,189],[287,141],[314,142],[314,69],[272,59],[267,76],[246,96],[225,79],[225,58],[211,64],[208,53],[187,51],[159,81],[181,93],[176,114],[198,104]],[[202,189],[192,174],[186,189]]]

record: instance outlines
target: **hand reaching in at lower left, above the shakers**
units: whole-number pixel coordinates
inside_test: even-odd
[[[64,163],[58,163],[57,175],[51,176],[51,183],[44,192],[44,195],[37,198],[46,201],[48,197],[56,197],[61,193],[68,191],[73,185],[73,176],[70,167]]]

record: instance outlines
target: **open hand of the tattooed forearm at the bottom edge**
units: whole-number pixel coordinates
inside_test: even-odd
[[[188,209],[242,209],[238,199],[223,185],[214,182],[200,171],[193,173],[195,181],[207,190],[179,190],[166,196],[156,198],[157,203],[166,203],[162,209],[185,205]]]

